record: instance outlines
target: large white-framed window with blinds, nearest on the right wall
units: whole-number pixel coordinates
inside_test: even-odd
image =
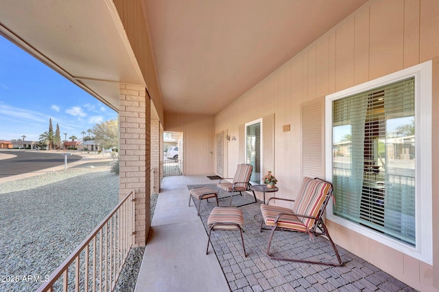
[[[327,217],[431,262],[431,62],[327,96]],[[430,117],[430,118],[428,118]]]

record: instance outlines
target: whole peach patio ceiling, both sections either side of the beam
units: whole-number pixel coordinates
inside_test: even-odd
[[[165,111],[216,114],[367,0],[140,0]],[[119,108],[145,84],[111,0],[0,0],[0,34]]]

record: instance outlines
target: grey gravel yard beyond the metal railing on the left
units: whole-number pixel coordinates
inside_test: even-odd
[[[48,172],[0,184],[0,291],[34,291],[119,200],[108,168]],[[19,276],[12,282],[12,276]],[[32,276],[34,280],[22,280]]]

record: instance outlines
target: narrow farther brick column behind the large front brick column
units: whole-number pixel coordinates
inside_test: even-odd
[[[154,194],[160,191],[160,161],[163,157],[163,151],[160,152],[161,140],[163,135],[160,136],[160,121],[153,119],[151,120],[151,172],[154,173],[151,174],[151,192]]]

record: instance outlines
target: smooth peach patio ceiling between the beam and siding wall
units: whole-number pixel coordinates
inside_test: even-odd
[[[143,0],[166,111],[216,114],[366,0]]]

